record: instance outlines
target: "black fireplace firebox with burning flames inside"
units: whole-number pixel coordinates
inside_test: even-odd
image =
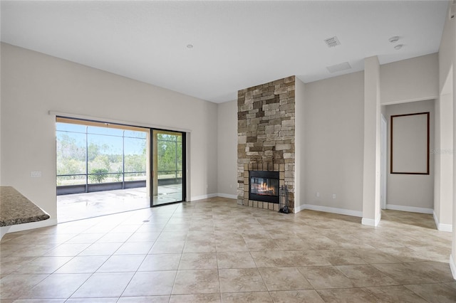
[[[249,171],[249,200],[279,203],[279,171]]]

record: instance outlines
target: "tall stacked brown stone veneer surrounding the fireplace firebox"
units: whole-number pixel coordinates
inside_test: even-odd
[[[294,209],[294,76],[237,92],[237,203],[278,210],[249,201],[249,170],[279,171]],[[266,205],[264,205],[266,204]]]

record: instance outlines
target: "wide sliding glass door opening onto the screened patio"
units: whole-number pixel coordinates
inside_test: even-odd
[[[185,133],[56,118],[59,222],[185,201]]]

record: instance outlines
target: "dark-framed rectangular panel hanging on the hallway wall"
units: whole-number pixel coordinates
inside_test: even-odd
[[[429,174],[429,124],[429,112],[391,116],[391,174]]]

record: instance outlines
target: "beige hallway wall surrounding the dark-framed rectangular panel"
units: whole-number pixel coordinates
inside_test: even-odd
[[[430,112],[430,151],[434,150],[434,100],[386,106],[388,122],[388,193],[387,208],[432,213],[434,208],[434,155],[430,154],[430,174],[390,174],[391,116]],[[401,206],[401,207],[396,207]],[[420,209],[425,208],[425,209]]]

